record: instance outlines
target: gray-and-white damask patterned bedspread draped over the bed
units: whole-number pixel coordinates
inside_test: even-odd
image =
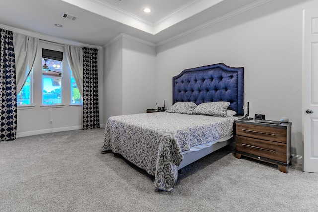
[[[102,151],[119,153],[155,176],[155,187],[173,191],[182,151],[222,138],[237,117],[143,113],[110,117]]]

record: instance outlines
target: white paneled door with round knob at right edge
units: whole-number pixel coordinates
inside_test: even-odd
[[[318,173],[318,8],[303,14],[303,171]]]

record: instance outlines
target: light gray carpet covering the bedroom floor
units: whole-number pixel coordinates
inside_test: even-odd
[[[318,211],[318,174],[221,149],[185,167],[174,192],[120,155],[101,154],[104,129],[0,142],[0,211]]]

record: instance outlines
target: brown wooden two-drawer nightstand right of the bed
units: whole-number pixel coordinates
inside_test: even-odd
[[[242,155],[277,164],[279,171],[287,173],[291,164],[291,126],[259,123],[257,120],[236,121],[235,157]]]

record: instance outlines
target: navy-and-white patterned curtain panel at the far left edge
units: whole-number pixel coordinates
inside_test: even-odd
[[[0,141],[16,138],[17,106],[13,33],[0,29]]]

